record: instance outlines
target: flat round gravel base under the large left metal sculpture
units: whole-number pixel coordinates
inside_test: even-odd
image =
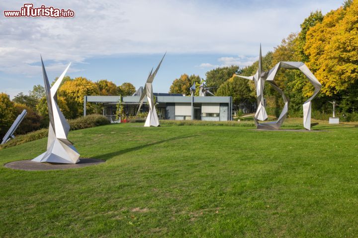
[[[58,163],[39,163],[31,160],[19,160],[6,163],[4,166],[13,170],[28,170],[28,171],[41,171],[41,170],[68,170],[77,169],[92,165],[104,163],[102,160],[80,158],[77,164],[58,164]]]

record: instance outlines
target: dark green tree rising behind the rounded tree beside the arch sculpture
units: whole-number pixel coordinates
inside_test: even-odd
[[[206,86],[215,87],[210,90],[215,94],[216,90],[220,87],[222,83],[231,78],[235,73],[240,73],[239,66],[231,65],[229,67],[218,67],[207,71],[206,76]],[[191,85],[190,85],[191,86]]]

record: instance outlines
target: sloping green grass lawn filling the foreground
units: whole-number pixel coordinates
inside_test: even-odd
[[[357,125],[142,125],[71,131],[100,165],[1,166],[0,237],[358,236]],[[46,142],[0,150],[0,164],[34,158]]]

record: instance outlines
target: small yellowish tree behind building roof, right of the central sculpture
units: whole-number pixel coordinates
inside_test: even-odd
[[[179,93],[184,95],[190,95],[190,87],[195,83],[198,87],[200,85],[201,78],[199,75],[182,74],[179,78],[175,79],[170,87],[169,93]]]

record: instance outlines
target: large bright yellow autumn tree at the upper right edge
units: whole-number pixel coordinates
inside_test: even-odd
[[[308,67],[322,83],[321,93],[336,95],[358,78],[358,1],[327,13],[306,36]]]

